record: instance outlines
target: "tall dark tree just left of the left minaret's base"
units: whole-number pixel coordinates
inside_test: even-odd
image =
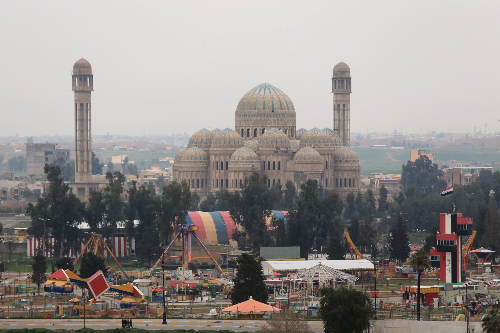
[[[26,209],[31,215],[29,232],[37,238],[42,237],[43,221],[40,218],[50,219],[46,221],[46,227],[52,228],[54,252],[56,257],[61,258],[69,253],[71,246],[79,246],[80,239],[84,238],[78,225],[83,219],[85,204],[69,193],[68,184],[60,176],[59,166],[45,164],[45,174],[49,183],[45,197],[38,198],[36,205],[30,203]]]

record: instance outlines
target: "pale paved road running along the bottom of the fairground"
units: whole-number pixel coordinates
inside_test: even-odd
[[[174,319],[168,320],[168,325],[162,325],[160,319],[132,319],[134,328],[141,329],[210,329],[233,331],[258,331],[265,325],[261,320],[217,320],[211,319]],[[322,332],[323,324],[311,321],[314,332]],[[121,319],[87,319],[86,327],[92,329],[115,329],[121,327]],[[0,329],[8,328],[47,328],[47,329],[80,329],[83,328],[83,319],[2,319]]]

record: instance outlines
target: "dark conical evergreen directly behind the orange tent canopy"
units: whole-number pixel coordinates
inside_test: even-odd
[[[250,296],[258,302],[267,303],[269,295],[264,283],[262,264],[247,253],[238,257],[236,262],[236,277],[232,280],[232,305],[247,301]]]

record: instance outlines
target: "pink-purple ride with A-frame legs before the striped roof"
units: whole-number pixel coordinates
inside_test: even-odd
[[[181,258],[183,267],[187,267],[187,265],[189,264],[189,262],[191,262],[192,259],[210,259],[213,261],[213,263],[215,264],[215,267],[218,269],[220,274],[222,276],[226,276],[225,272],[219,266],[217,261],[215,261],[213,256],[210,254],[210,251],[208,251],[206,246],[203,244],[201,239],[199,239],[198,235],[196,234],[196,231],[198,231],[198,227],[196,225],[192,225],[192,224],[181,225],[181,224],[179,224],[179,225],[177,225],[176,230],[177,230],[177,234],[175,235],[175,237],[173,237],[172,241],[170,242],[168,247],[165,249],[165,251],[163,252],[161,257],[158,259],[158,261],[156,261],[154,266],[151,267],[151,269],[149,269],[149,271],[147,272],[148,275],[151,275],[151,273],[154,271],[154,269],[161,263],[161,260],[166,260],[169,258]],[[195,258],[192,257],[191,236],[193,236],[201,244],[201,246],[205,250],[206,254],[208,254],[208,256],[201,256],[201,257],[195,257]],[[168,252],[170,251],[170,247],[172,247],[172,245],[175,243],[175,241],[178,238],[180,238],[181,242],[182,242],[182,255],[167,256]]]

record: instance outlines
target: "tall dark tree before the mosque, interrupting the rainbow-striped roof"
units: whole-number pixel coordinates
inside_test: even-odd
[[[234,232],[233,239],[242,248],[249,247],[258,252],[260,247],[272,243],[265,219],[271,216],[278,198],[275,192],[271,192],[267,187],[266,175],[260,176],[254,172],[245,177],[243,186],[241,191],[236,191],[228,200],[232,219],[243,229]]]

